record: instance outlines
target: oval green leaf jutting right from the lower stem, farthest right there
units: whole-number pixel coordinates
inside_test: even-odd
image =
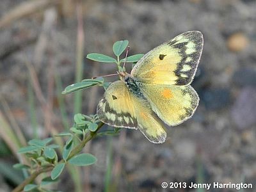
[[[79,154],[69,159],[68,163],[74,164],[76,166],[86,166],[93,164],[96,161],[96,157],[94,157],[92,154]]]

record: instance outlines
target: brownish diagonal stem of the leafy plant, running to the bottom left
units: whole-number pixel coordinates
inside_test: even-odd
[[[99,131],[99,129],[104,125],[104,123],[100,122],[97,131]],[[79,154],[79,152],[81,152],[81,150],[83,150],[84,146],[86,145],[86,143],[90,140],[92,140],[96,135],[97,135],[97,131],[95,132],[89,132],[87,134],[87,136],[84,138],[83,141],[81,141],[81,143],[79,143],[70,153],[70,156],[68,157],[68,159],[76,156],[76,154]],[[63,159],[59,162],[59,163],[64,163]],[[22,189],[29,183],[33,182],[33,180],[36,179],[36,177],[38,175],[40,175],[41,173],[45,173],[45,172],[51,172],[51,170],[53,169],[53,166],[47,166],[45,168],[41,168],[40,170],[37,170],[36,172],[32,173],[26,180],[24,180],[21,184],[19,184],[19,186],[17,186],[15,189],[13,189],[12,192],[19,192],[22,191]]]

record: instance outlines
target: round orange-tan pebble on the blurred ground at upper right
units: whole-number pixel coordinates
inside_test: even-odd
[[[249,44],[248,38],[243,33],[234,33],[228,37],[227,47],[230,51],[243,51]]]

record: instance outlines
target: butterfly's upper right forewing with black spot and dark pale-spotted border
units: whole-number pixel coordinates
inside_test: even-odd
[[[145,54],[134,66],[131,75],[144,83],[190,84],[203,44],[200,31],[182,33]]]

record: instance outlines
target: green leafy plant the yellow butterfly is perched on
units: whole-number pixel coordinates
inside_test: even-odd
[[[102,63],[116,63],[118,72],[124,72],[125,67],[121,66],[122,63],[136,63],[136,61],[140,60],[143,56],[143,54],[136,54],[127,57],[126,54],[125,58],[120,59],[121,54],[127,49],[128,43],[127,40],[115,42],[113,52],[116,59],[98,53],[88,54],[86,58]],[[106,89],[109,84],[109,82],[104,81],[103,77],[84,79],[79,83],[67,86],[62,94],[76,92],[92,86],[103,86]],[[81,150],[83,150],[86,143],[97,136],[115,136],[120,131],[120,128],[99,131],[103,125],[104,123],[100,122],[97,115],[83,115],[77,113],[74,115],[74,124],[69,131],[55,135],[65,141],[63,147],[61,147],[60,144],[54,143],[53,138],[45,138],[44,140],[35,138],[28,141],[28,146],[22,147],[18,151],[19,154],[26,157],[28,160],[26,161],[27,163],[14,164],[13,167],[20,170],[27,170],[30,175],[13,191],[51,191],[45,189],[44,186],[52,184],[52,182],[57,182],[58,177],[67,164],[88,166],[95,163],[97,159],[92,154],[81,154]],[[34,135],[37,137],[36,134]],[[61,155],[58,156],[58,154]],[[40,181],[40,184],[36,184],[35,179],[38,175],[46,172],[51,172],[51,177],[44,177]]]

